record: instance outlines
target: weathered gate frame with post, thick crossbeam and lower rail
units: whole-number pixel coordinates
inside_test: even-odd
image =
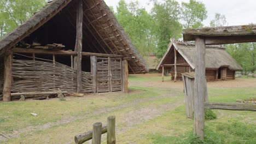
[[[203,140],[205,109],[256,111],[256,105],[252,104],[208,103],[208,101],[205,101],[207,95],[205,78],[206,45],[256,42],[256,25],[183,29],[183,40],[195,41],[196,45],[194,134]]]

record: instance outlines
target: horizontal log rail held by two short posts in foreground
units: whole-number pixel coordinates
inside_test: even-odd
[[[107,126],[104,126],[101,128],[101,134],[105,134],[105,133],[107,133]],[[74,141],[77,144],[82,144],[91,139],[92,139],[92,131],[88,131],[86,133],[83,133],[74,137]]]

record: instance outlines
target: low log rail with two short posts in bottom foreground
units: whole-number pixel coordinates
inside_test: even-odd
[[[92,140],[92,144],[101,144],[101,135],[107,133],[107,143],[115,144],[115,116],[108,117],[107,126],[102,127],[102,123],[95,123],[92,131],[76,135],[74,141],[77,144]]]

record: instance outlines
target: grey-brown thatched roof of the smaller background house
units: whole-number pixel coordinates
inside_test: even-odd
[[[191,68],[195,69],[196,49],[195,44],[190,42],[172,41],[165,56],[162,57],[156,69],[160,69],[163,64],[168,63],[172,50],[176,49],[179,54],[188,62]],[[242,70],[242,67],[232,58],[225,48],[222,46],[206,46],[206,69],[219,69],[221,67],[228,67],[230,70]]]

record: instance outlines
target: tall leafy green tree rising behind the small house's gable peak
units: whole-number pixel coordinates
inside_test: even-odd
[[[181,38],[182,25],[179,22],[181,7],[179,3],[173,0],[167,0],[163,3],[153,1],[152,16],[155,21],[154,33],[156,35],[157,48],[156,56],[161,58],[166,52],[170,38]]]

